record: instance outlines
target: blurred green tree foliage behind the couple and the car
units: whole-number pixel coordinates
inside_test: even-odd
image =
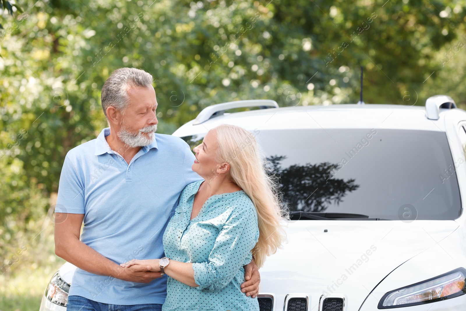
[[[366,103],[424,105],[445,93],[466,107],[465,0],[24,0],[21,7],[1,15],[3,265],[23,245],[53,244],[39,237],[64,157],[107,126],[100,90],[114,69],[153,75],[162,133],[226,101],[356,103],[359,66]]]

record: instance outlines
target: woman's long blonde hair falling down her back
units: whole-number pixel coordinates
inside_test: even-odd
[[[231,124],[212,129],[217,137],[217,161],[230,164],[232,181],[241,187],[256,207],[259,241],[252,250],[260,268],[286,239],[283,220],[288,213],[281,204],[278,183],[268,174],[267,160],[253,132]]]

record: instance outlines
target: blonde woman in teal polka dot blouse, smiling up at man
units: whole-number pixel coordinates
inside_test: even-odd
[[[241,292],[243,266],[260,267],[281,246],[284,210],[259,145],[245,129],[222,124],[194,148],[192,170],[204,180],[185,187],[164,232],[165,256],[132,260],[166,273],[163,311],[257,310]]]

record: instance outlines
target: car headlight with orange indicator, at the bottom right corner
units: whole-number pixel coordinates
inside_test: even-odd
[[[466,293],[466,270],[459,268],[441,276],[392,290],[380,300],[378,309],[428,304]]]

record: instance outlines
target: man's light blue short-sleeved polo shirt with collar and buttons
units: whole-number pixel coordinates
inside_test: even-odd
[[[162,258],[162,236],[186,185],[202,178],[191,170],[194,155],[181,138],[155,134],[128,165],[104,136],[65,157],[55,212],[84,214],[81,241],[120,264]],[[166,275],[150,283],[127,282],[76,269],[69,296],[106,304],[163,304]]]

